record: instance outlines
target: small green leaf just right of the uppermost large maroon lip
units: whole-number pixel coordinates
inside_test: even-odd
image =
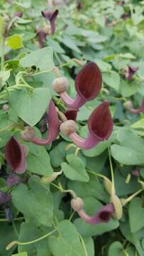
[[[116,92],[119,90],[120,85],[120,76],[116,71],[111,71],[107,73],[103,73],[103,81],[108,85],[109,87],[112,87]]]

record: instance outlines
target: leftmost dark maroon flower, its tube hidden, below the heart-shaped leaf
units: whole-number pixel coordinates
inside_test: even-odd
[[[23,174],[26,171],[26,151],[14,137],[6,144],[6,161],[14,173]]]

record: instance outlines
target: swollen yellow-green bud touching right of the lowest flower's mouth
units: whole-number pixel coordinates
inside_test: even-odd
[[[113,203],[114,206],[113,218],[115,218],[116,220],[120,220],[123,215],[123,207],[120,199],[118,198],[118,196],[116,196],[115,193],[112,193],[110,201],[111,203]]]

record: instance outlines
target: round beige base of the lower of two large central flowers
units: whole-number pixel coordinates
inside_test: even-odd
[[[73,132],[77,131],[77,124],[74,122],[74,120],[67,120],[65,122],[62,122],[60,125],[60,132],[64,134],[65,136],[69,136]]]

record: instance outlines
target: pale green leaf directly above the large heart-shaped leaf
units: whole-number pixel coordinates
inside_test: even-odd
[[[33,53],[29,53],[21,58],[20,64],[23,68],[34,65],[36,68],[40,68],[40,70],[52,70],[54,67],[52,48],[45,47],[40,50],[35,50]]]

